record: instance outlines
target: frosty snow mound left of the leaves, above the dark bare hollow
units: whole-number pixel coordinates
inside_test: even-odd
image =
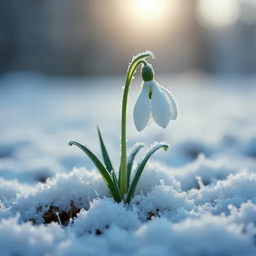
[[[69,211],[72,207],[88,209],[89,201],[96,198],[95,190],[101,197],[110,195],[97,170],[73,168],[69,173],[57,173],[45,183],[24,189],[4,204],[11,206],[12,212],[20,213],[20,221],[33,220],[39,224],[44,222],[43,214],[50,206],[55,211]]]

